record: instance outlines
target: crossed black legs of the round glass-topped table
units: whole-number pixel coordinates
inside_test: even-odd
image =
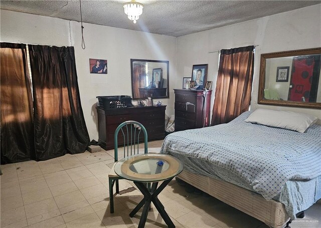
[[[134,216],[135,213],[142,207],[143,204],[144,208],[139,220],[139,225],[138,228],[142,228],[145,225],[146,219],[147,219],[147,214],[148,214],[148,209],[150,206],[150,202],[153,202],[155,205],[156,209],[158,210],[159,214],[163,217],[164,221],[170,228],[175,228],[175,225],[173,221],[171,220],[170,216],[167,214],[165,211],[164,205],[159,201],[157,198],[157,195],[161,193],[161,191],[168,185],[168,183],[172,180],[173,178],[165,180],[159,187],[156,189],[158,183],[153,183],[151,187],[151,191],[149,192],[146,186],[141,183],[141,182],[135,182],[134,184],[137,186],[137,188],[141,191],[141,193],[144,195],[144,198],[138,203],[138,205],[130,212],[129,216]]]

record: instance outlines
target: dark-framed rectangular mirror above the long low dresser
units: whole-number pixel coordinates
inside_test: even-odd
[[[130,59],[132,98],[168,98],[169,65],[169,61]]]

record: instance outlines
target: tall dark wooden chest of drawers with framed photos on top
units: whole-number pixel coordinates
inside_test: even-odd
[[[174,89],[175,131],[210,126],[212,90]]]

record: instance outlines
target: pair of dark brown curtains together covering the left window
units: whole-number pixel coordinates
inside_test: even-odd
[[[1,163],[84,152],[74,48],[1,43],[0,55]]]

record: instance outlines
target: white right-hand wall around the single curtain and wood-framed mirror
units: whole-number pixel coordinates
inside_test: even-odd
[[[260,107],[304,112],[321,119],[321,110],[317,109],[257,104],[260,55],[321,47],[320,12],[321,4],[179,37],[176,86],[178,88],[182,86],[183,77],[191,77],[193,65],[209,64],[208,81],[213,81],[212,88],[215,88],[219,54],[209,52],[258,45],[255,48],[251,109]],[[213,91],[211,107],[214,103],[214,94],[215,91]],[[321,124],[321,120],[318,123]]]

